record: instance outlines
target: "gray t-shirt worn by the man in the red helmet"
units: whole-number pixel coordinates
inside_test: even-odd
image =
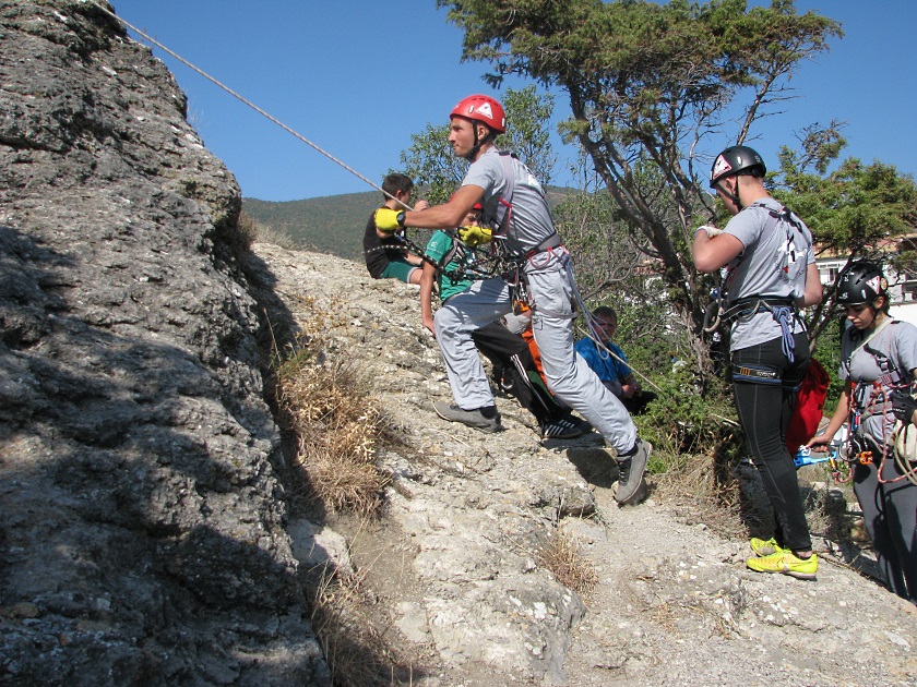
[[[504,167],[505,157],[509,165]],[[507,169],[513,172],[514,183],[510,226],[507,243],[510,250],[529,251],[555,232],[553,220],[545,201],[545,191],[528,168],[509,155],[501,156],[497,148],[490,147],[468,168],[462,185],[476,185],[484,189],[484,219],[492,227],[499,227],[504,210],[500,198],[509,193]]]

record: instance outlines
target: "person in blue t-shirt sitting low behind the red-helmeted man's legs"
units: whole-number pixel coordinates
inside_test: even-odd
[[[618,313],[614,308],[600,305],[593,311],[592,316],[599,341],[608,350],[599,348],[598,343],[587,336],[576,341],[573,348],[585,359],[606,388],[624,405],[628,412],[634,415],[644,412],[646,406],[656,400],[656,395],[643,390],[628,365],[624,351],[611,340],[618,330]]]

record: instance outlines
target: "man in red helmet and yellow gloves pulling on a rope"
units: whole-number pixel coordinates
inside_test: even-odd
[[[573,350],[575,285],[570,255],[555,231],[537,179],[520,160],[493,145],[507,130],[503,107],[489,96],[473,95],[452,109],[450,120],[453,152],[472,162],[462,186],[449,203],[424,212],[380,208],[376,226],[381,231],[403,227],[451,229],[462,226],[475,203],[481,204],[485,226],[462,229],[460,237],[478,244],[496,234],[507,254],[516,261],[548,384],[617,449],[618,503],[638,503],[646,494],[644,471],[652,447],[636,436],[627,409]],[[455,401],[433,405],[443,419],[487,432],[502,429],[472,332],[511,312],[512,302],[510,286],[502,277],[493,277],[472,282],[437,312],[437,340]]]

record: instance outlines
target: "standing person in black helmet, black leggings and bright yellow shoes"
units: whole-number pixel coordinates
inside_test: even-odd
[[[776,519],[775,537],[752,539],[759,572],[814,579],[818,557],[806,522],[796,466],[786,447],[799,385],[809,365],[809,341],[799,308],[821,302],[822,289],[805,224],[764,189],[764,161],[738,145],[716,156],[710,173],[734,217],[725,229],[699,227],[694,266],[727,267],[731,321],[733,391],[746,445],[761,473]]]

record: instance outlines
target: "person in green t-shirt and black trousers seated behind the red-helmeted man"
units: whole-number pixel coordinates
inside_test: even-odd
[[[465,217],[465,225],[474,226],[479,218],[480,205],[477,204]],[[425,263],[420,278],[420,317],[424,326],[434,337],[434,284],[442,302],[455,293],[461,293],[471,284],[471,279],[454,275],[461,267],[461,256],[471,256],[471,253],[456,243],[457,239],[440,230],[430,238],[425,251],[430,262]],[[545,386],[525,339],[510,332],[501,322],[492,322],[473,332],[472,340],[478,351],[490,360],[493,369],[502,371],[501,389],[515,396],[520,405],[535,417],[541,438],[573,438],[583,434],[583,421],[558,405]],[[502,430],[502,424],[500,429]]]

